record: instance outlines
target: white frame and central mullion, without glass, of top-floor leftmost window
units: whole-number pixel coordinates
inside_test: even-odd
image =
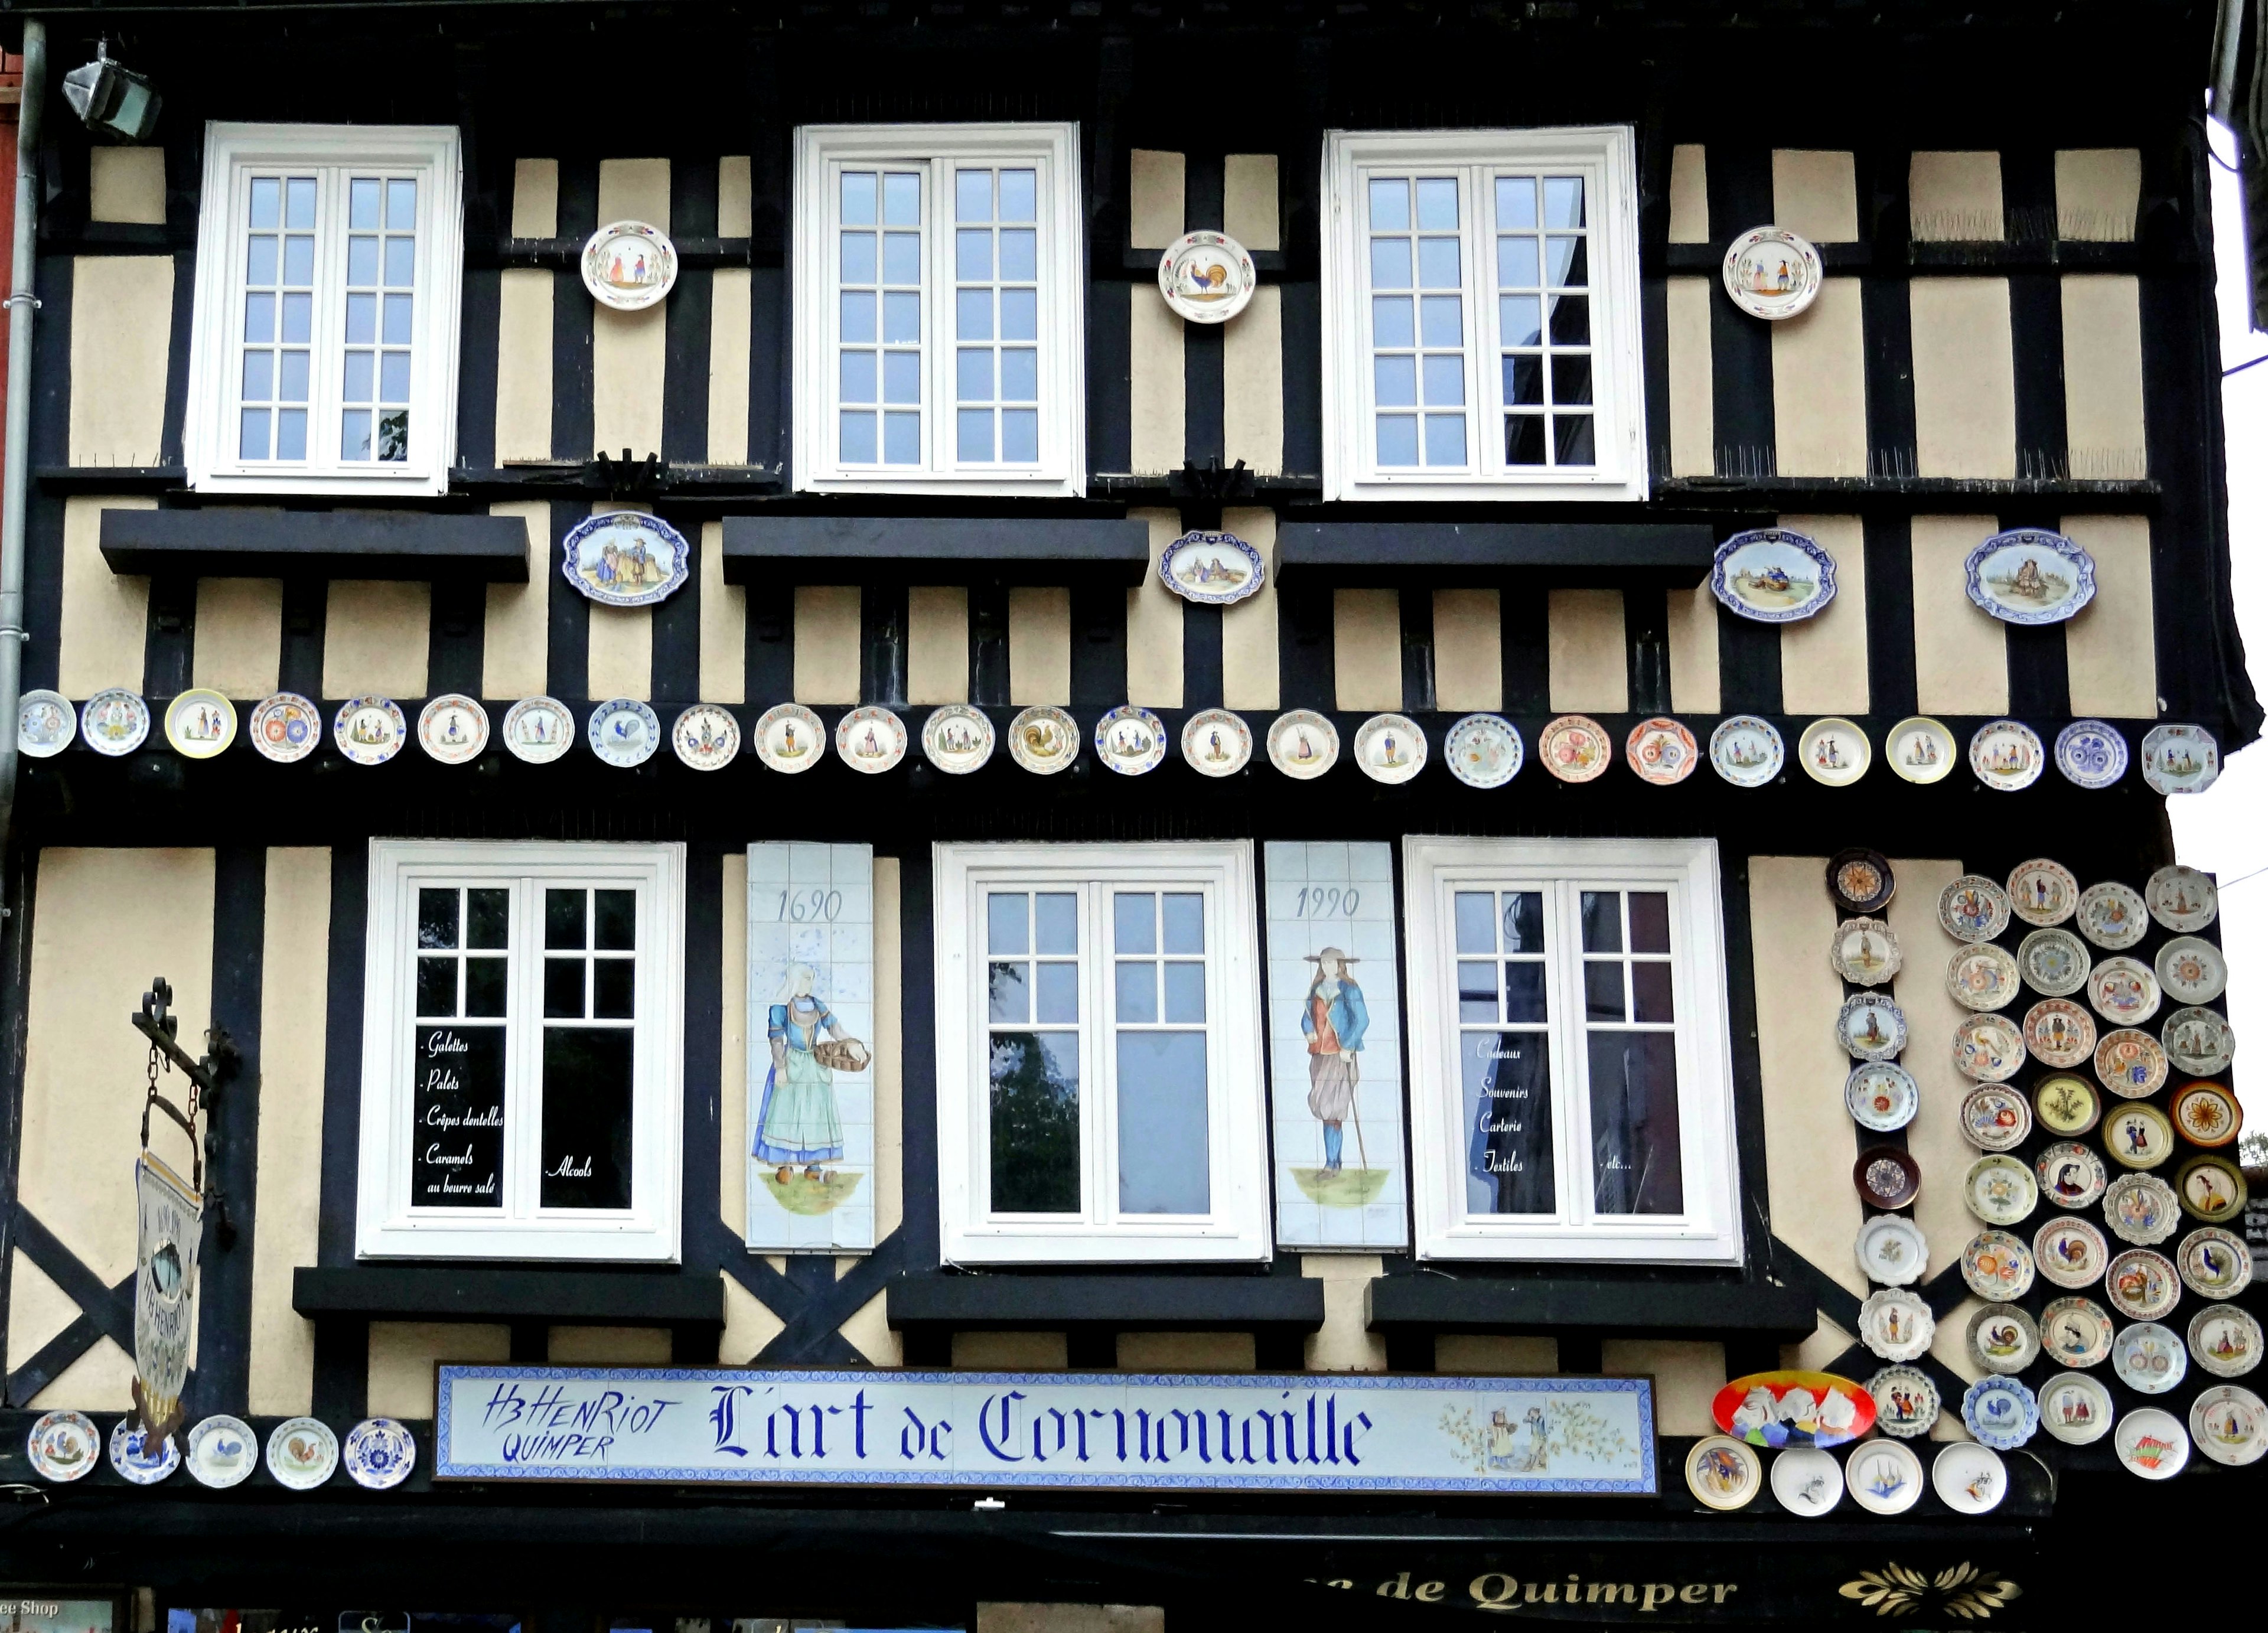
[[[272,166],[415,172],[417,281],[411,338],[411,449],[399,463],[338,458],[345,308],[345,200],[318,218],[313,386],[306,460],[238,458],[238,358],[245,322],[240,245],[247,170]],[[456,349],[465,288],[465,175],[454,125],[204,127],[197,297],[188,347],[184,458],[197,492],[445,494],[456,460]],[[329,254],[327,254],[329,249]],[[336,265],[333,265],[336,263]]]

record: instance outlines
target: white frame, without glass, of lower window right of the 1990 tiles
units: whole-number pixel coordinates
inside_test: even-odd
[[[1402,841],[1408,914],[1411,1154],[1420,1259],[1742,1263],[1740,1145],[1715,839]],[[1560,1216],[1465,1207],[1465,1127],[1456,1014],[1458,889],[1667,889],[1676,993],[1678,1136],[1685,1213],[1590,1213],[1590,1093],[1581,980],[1551,989],[1554,1159]],[[1579,946],[1551,953],[1581,962]]]

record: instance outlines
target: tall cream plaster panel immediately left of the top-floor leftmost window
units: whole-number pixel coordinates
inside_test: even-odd
[[[70,265],[70,463],[161,465],[172,256]]]

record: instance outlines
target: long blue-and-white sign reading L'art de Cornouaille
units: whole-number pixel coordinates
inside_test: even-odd
[[[1651,1497],[1592,1377],[442,1365],[435,1479]]]

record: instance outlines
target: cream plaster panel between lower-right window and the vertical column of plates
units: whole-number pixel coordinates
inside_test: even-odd
[[[1860,1227],[1857,1191],[1848,1182],[1857,1148],[1842,1102],[1851,1059],[1835,1043],[1844,993],[1826,959],[1835,934],[1835,905],[1819,887],[1826,864],[1826,857],[1749,857],[1755,989],[1771,993],[1771,1002],[1755,1007],[1765,1193],[1771,1234],[1864,1297],[1867,1277],[1851,1254]]]

